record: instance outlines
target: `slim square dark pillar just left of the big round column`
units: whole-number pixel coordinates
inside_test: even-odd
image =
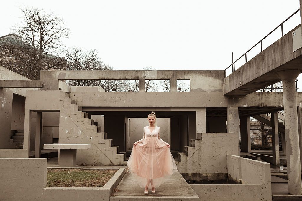
[[[272,150],[273,150],[273,164],[280,165],[279,154],[279,130],[278,130],[278,112],[271,112],[271,137],[272,137]]]

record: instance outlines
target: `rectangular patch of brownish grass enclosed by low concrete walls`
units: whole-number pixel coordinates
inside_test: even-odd
[[[47,187],[103,187],[118,169],[47,169]]]

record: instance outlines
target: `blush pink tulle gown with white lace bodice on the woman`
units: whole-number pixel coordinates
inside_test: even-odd
[[[177,167],[169,147],[160,139],[160,127],[151,132],[148,126],[143,129],[143,139],[132,148],[127,166],[132,176],[145,187],[148,179],[153,179],[155,188],[167,181]],[[148,186],[151,188],[151,184]]]

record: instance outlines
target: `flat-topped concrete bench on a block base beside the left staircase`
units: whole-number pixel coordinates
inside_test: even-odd
[[[91,144],[44,144],[44,149],[59,149],[59,167],[76,167],[76,150],[89,148]]]

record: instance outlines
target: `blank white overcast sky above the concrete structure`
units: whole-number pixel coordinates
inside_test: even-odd
[[[115,70],[224,70],[231,52],[236,60],[299,8],[299,0],[70,2],[2,1],[0,36],[20,22],[19,5],[35,7],[66,22],[67,47],[96,49]],[[284,24],[284,34],[300,23],[297,13]],[[263,45],[280,37],[278,29]]]

